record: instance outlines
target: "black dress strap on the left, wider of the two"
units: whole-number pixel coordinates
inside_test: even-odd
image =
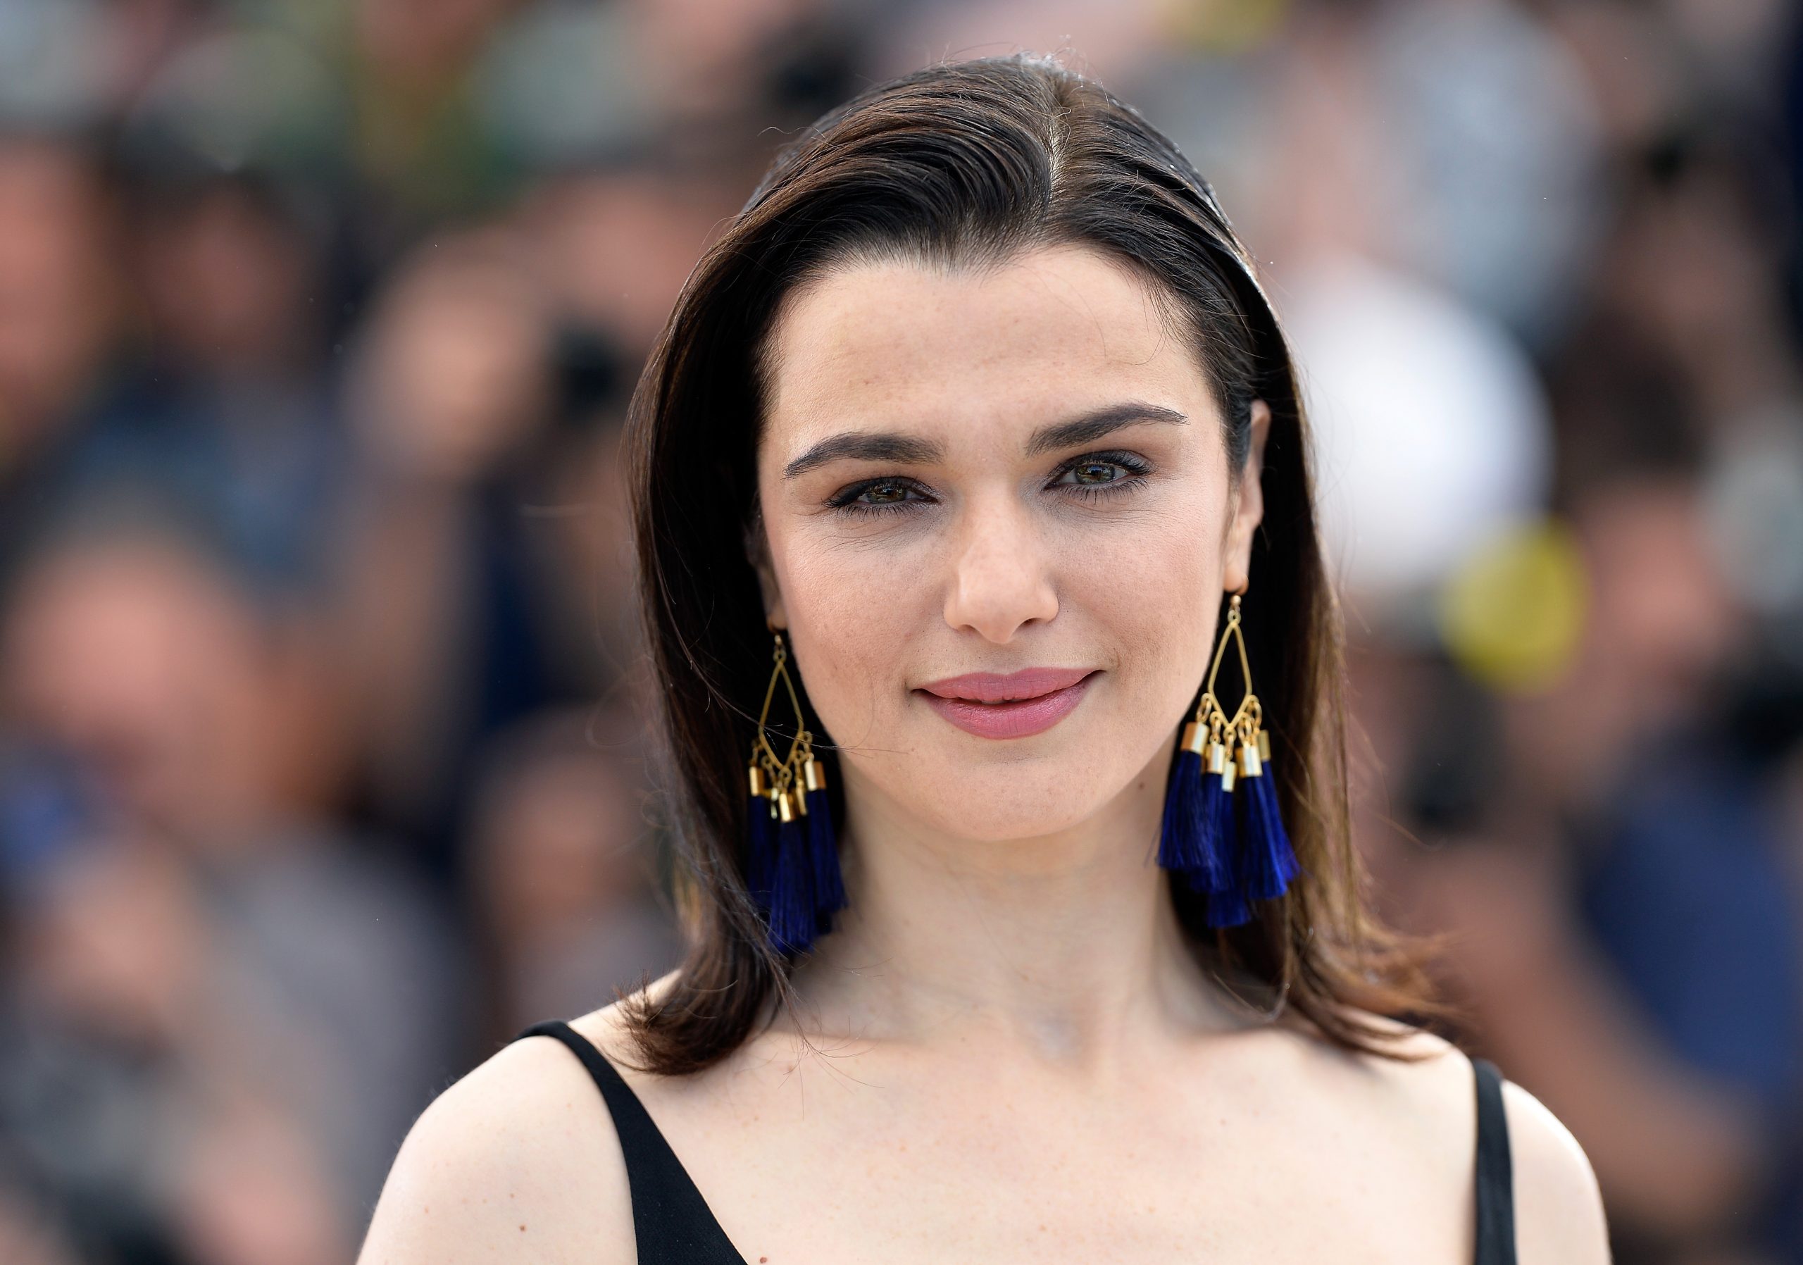
[[[582,1060],[600,1088],[626,1157],[626,1180],[633,1191],[633,1238],[638,1265],[745,1265],[696,1189],[689,1169],[676,1159],[664,1132],[618,1069],[595,1045],[563,1020],[545,1020],[514,1040],[554,1036]]]

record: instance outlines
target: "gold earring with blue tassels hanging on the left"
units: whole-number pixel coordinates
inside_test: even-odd
[[[757,717],[757,739],[746,768],[746,881],[752,899],[779,953],[795,953],[833,930],[833,914],[846,906],[838,872],[838,838],[826,795],[826,766],[813,755],[813,733],[802,719],[801,697],[788,674],[788,647],[775,634],[770,688]],[[777,755],[764,726],[777,681],[788,688],[795,708],[795,737],[788,753]]]

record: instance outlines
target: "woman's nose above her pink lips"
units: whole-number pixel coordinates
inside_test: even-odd
[[[1004,645],[1026,623],[1058,613],[1049,550],[1033,515],[1013,497],[970,503],[952,537],[945,622]]]

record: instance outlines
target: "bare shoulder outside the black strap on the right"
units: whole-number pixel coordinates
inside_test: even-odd
[[[1515,1175],[1515,1238],[1522,1265],[1608,1265],[1603,1193],[1570,1130],[1515,1081],[1502,1083]]]

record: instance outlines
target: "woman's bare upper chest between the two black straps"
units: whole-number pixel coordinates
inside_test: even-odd
[[[635,1090],[746,1261],[1469,1261],[1471,1124],[1433,1085],[1460,1069],[1273,1052],[1094,1081],[752,1058]]]

